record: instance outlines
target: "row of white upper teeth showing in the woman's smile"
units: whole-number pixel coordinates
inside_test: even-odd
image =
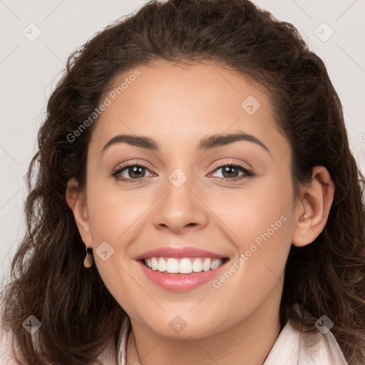
[[[171,274],[190,274],[191,272],[202,272],[217,269],[223,263],[222,259],[210,258],[189,258],[175,259],[174,257],[149,257],[145,259],[147,267],[159,272],[170,272]]]

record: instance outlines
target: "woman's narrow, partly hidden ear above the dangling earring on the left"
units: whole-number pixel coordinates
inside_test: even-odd
[[[79,189],[78,182],[75,178],[68,180],[66,201],[73,211],[73,217],[75,217],[78,232],[80,232],[83,243],[88,247],[93,247],[85,192]]]

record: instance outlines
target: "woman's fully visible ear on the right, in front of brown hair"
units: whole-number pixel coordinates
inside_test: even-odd
[[[295,207],[294,246],[309,245],[322,232],[334,199],[334,189],[327,168],[315,166],[309,185],[300,188],[302,200]]]

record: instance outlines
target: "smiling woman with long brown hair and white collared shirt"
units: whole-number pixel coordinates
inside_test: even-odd
[[[19,361],[364,364],[364,177],[294,26],[150,1],[71,55],[38,145]]]

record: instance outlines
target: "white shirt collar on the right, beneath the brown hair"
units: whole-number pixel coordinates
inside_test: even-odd
[[[348,365],[331,331],[299,331],[289,319],[264,365]]]

